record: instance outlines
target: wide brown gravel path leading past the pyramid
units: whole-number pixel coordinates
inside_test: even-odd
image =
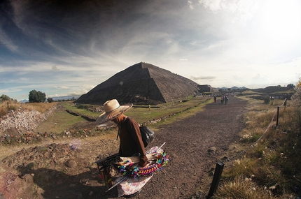
[[[212,181],[209,171],[223,156],[228,156],[230,145],[239,141],[245,106],[246,101],[230,97],[227,105],[221,101],[210,103],[194,117],[162,126],[152,145],[166,142],[164,149],[171,162],[135,197],[191,198],[197,191],[195,198],[207,195]],[[211,147],[216,150],[209,150]]]

